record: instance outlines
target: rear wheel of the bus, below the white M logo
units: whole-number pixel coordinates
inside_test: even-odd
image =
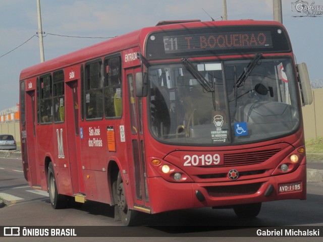
[[[49,162],[49,165],[48,165],[47,182],[48,182],[48,194],[49,194],[51,207],[53,209],[66,208],[67,198],[62,194],[58,194],[55,173],[51,162]]]

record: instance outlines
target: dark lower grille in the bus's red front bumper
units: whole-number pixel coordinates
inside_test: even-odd
[[[233,186],[221,186],[221,187],[206,187],[207,193],[210,197],[235,197],[243,195],[255,194],[262,183],[233,185]]]

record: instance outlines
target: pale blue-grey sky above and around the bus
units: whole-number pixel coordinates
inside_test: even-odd
[[[314,82],[323,79],[323,15],[300,17],[296,3],[321,14],[323,0],[282,0],[297,63],[307,64]],[[204,10],[217,21],[223,16],[223,0],[40,0],[40,7],[45,61],[161,20],[211,20]],[[227,12],[228,20],[273,20],[273,0],[227,0]],[[19,102],[21,70],[40,62],[37,32],[36,0],[0,0],[0,110]]]

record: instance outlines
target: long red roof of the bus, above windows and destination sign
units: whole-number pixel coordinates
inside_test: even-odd
[[[134,46],[140,46],[144,50],[144,42],[146,36],[151,32],[159,32],[184,28],[201,28],[209,26],[237,26],[237,25],[283,25],[276,21],[255,21],[255,20],[229,20],[229,21],[162,21],[164,24],[153,27],[142,28],[124,35],[120,35],[109,40],[76,50],[74,52],[50,59],[49,61],[31,66],[22,70],[20,80],[31,78],[34,76],[46,74],[55,70],[63,69],[79,63],[90,61],[104,55],[113,54]],[[166,24],[169,23],[169,24]],[[174,24],[175,23],[175,24]]]

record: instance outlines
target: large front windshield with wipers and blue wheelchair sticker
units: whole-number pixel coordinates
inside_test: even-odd
[[[252,59],[150,66],[151,134],[164,143],[218,146],[295,132],[293,62],[260,57],[252,68]]]

